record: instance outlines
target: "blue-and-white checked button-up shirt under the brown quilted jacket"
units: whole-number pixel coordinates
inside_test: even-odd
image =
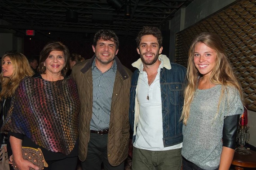
[[[109,128],[116,70],[115,60],[112,67],[105,73],[98,70],[95,60],[93,61],[93,116],[90,122],[90,129],[93,131],[102,131]]]

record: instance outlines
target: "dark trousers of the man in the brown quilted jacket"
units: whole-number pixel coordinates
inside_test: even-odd
[[[107,156],[108,134],[98,135],[90,133],[87,157],[81,162],[83,170],[101,170],[103,162],[104,170],[124,170],[124,162],[119,166],[111,166]]]

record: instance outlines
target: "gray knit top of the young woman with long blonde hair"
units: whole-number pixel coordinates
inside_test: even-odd
[[[214,170],[220,164],[225,116],[243,113],[243,104],[235,87],[227,87],[217,113],[220,96],[221,85],[197,89],[187,125],[183,125],[181,155],[204,170]]]

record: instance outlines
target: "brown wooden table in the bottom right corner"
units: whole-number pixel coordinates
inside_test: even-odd
[[[251,154],[242,155],[237,152],[234,153],[232,165],[235,170],[244,170],[243,168],[256,168],[256,152],[250,150]]]

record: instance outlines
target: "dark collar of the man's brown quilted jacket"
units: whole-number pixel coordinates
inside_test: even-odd
[[[93,57],[91,59],[88,60],[88,62],[86,62],[86,64],[84,65],[84,67],[81,69],[82,73],[87,72],[89,69],[92,68],[93,65],[93,61],[96,58],[95,54],[93,55]],[[124,65],[122,65],[121,61],[119,60],[119,58],[117,56],[115,56],[115,62],[117,65],[117,70],[119,71],[119,73],[121,74],[121,76],[123,77],[123,79],[125,80],[126,78],[129,78],[128,73],[125,71],[124,69]]]

